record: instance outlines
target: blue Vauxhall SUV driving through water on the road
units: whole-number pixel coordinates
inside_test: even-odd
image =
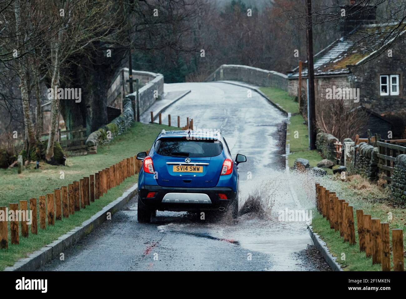
[[[220,132],[168,131],[156,137],[149,154],[138,153],[138,221],[159,211],[215,212],[238,216],[237,166]]]

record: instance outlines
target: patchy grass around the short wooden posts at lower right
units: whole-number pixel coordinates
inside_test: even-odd
[[[372,259],[366,258],[365,252],[359,251],[355,210],[361,209],[364,214],[371,214],[372,218],[379,218],[381,222],[389,222],[390,244],[392,244],[391,229],[400,228],[405,231],[406,210],[404,204],[398,205],[387,201],[387,190],[369,183],[358,175],[348,177],[347,181],[322,179],[320,183],[328,190],[336,192],[340,199],[345,199],[349,205],[353,206],[356,244],[350,245],[348,242],[343,242],[339,232],[330,229],[329,222],[317,211],[313,212],[313,215],[316,215],[312,220],[313,231],[326,242],[330,253],[337,257],[337,262],[344,271],[381,271],[380,264],[372,265]],[[389,219],[389,215],[392,216],[392,219]],[[406,234],[404,234],[404,242],[406,242]],[[342,259],[343,254],[345,260]]]

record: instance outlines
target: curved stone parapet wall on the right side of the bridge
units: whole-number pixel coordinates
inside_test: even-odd
[[[285,74],[253,68],[247,65],[223,64],[206,78],[210,81],[243,81],[256,86],[278,87],[287,91],[287,76]]]

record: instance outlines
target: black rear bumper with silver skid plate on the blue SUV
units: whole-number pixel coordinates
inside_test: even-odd
[[[155,196],[147,198],[149,192]],[[220,199],[218,193],[224,193],[227,199]],[[138,190],[140,201],[151,210],[175,212],[199,212],[218,210],[235,201],[236,193],[229,187],[213,188],[174,188],[144,185]]]

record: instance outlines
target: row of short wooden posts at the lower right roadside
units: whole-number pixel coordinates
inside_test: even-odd
[[[330,229],[340,232],[344,242],[356,244],[354,211],[348,202],[316,183],[316,207],[330,222]],[[391,271],[389,223],[381,223],[363,210],[356,210],[355,214],[360,252],[365,251],[367,258],[372,257],[372,264],[381,264],[382,271]],[[404,271],[402,229],[392,229],[392,260],[393,271]]]

